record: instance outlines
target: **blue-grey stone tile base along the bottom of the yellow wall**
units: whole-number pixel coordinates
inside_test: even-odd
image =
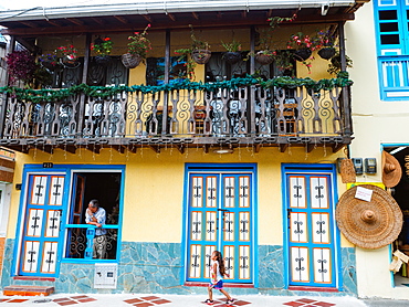
[[[12,251],[14,240],[6,243],[4,268],[1,286],[8,285],[41,285],[46,283],[31,280],[13,280],[11,276]],[[342,275],[344,285],[339,293],[290,292],[284,289],[283,246],[259,246],[259,287],[229,288],[232,295],[314,295],[314,296],[356,296],[355,251],[342,248]],[[55,278],[55,293],[78,294],[180,294],[207,295],[207,287],[188,287],[181,285],[185,267],[181,263],[180,243],[138,243],[123,242],[118,264],[117,288],[94,288],[94,265],[62,263],[60,276]]]

